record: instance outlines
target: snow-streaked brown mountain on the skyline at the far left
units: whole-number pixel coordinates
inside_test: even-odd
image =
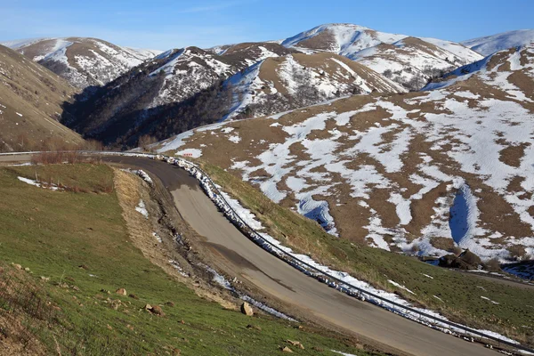
[[[79,89],[105,85],[160,53],[134,50],[85,37],[39,38],[4,44],[67,79]]]

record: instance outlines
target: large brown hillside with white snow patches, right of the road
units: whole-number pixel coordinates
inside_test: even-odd
[[[352,242],[522,258],[534,254],[534,48],[485,63],[434,91],[227,121],[155,149],[239,174]]]

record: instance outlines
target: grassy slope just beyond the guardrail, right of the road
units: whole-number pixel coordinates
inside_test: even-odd
[[[489,328],[534,344],[534,328],[531,327],[534,325],[534,293],[531,290],[504,287],[382,249],[355,246],[328,235],[319,224],[302,215],[272,203],[239,177],[217,166],[206,163],[202,166],[214,182],[223,186],[223,190],[251,209],[275,238],[295,251],[311,255],[315,260],[341,271],[349,271],[377,287],[395,291],[415,303],[442,312],[451,320],[472,327]],[[401,283],[416,295],[393,287],[388,279]],[[490,303],[481,296],[499,304]]]

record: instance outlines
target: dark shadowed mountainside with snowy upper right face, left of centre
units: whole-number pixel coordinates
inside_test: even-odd
[[[150,130],[161,135],[185,131],[227,113],[230,99],[217,97],[219,87],[242,68],[197,47],[169,50],[108,85],[77,95],[63,122],[85,136],[130,146]]]

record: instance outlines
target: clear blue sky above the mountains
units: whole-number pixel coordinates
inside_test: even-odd
[[[534,28],[532,0],[0,0],[0,41],[93,36],[166,50],[286,38],[329,22],[461,41]]]

